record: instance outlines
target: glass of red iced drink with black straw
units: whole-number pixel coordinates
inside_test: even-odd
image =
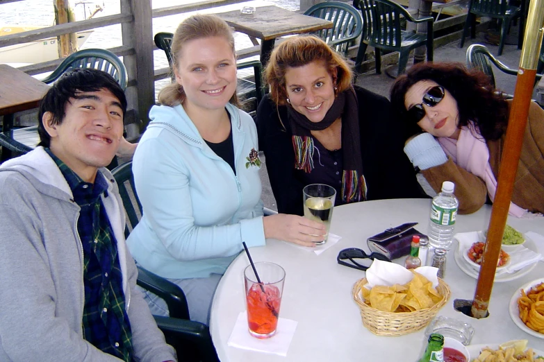
[[[286,271],[278,264],[262,261],[255,263],[261,283],[251,265],[244,270],[247,326],[256,338],[270,338],[276,334],[279,308],[283,296]]]

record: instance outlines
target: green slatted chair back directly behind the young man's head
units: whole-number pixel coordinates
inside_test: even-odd
[[[53,83],[67,71],[75,68],[105,71],[117,80],[123,90],[126,89],[126,85],[129,83],[123,62],[117,58],[117,55],[106,49],[84,49],[68,55],[53,73],[42,79],[42,82]]]

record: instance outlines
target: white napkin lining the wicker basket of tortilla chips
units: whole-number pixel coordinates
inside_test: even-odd
[[[420,266],[419,268],[415,268],[414,271],[426,277],[435,288],[438,286],[438,277],[436,276],[438,268],[434,268],[434,266]],[[404,285],[410,282],[412,278],[413,274],[410,270],[404,268],[404,266],[374,259],[370,268],[366,270],[368,283],[365,284],[365,288],[370,290],[372,286],[376,285]]]

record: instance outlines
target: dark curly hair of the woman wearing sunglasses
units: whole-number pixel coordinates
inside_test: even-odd
[[[504,97],[495,92],[486,74],[455,62],[415,64],[395,80],[390,96],[393,110],[400,119],[408,119],[404,97],[420,80],[432,80],[452,94],[459,108],[459,128],[467,126],[469,120],[474,121],[480,135],[490,141],[500,139],[505,132],[509,109]],[[417,123],[406,127],[408,136],[421,132]]]

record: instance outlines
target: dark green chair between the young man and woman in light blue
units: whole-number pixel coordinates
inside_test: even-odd
[[[125,236],[128,237],[142,215],[142,205],[134,187],[132,162],[117,166],[112,173],[129,219],[125,227]],[[187,299],[179,286],[141,266],[138,266],[136,283],[165,300],[170,316],[154,318],[166,342],[176,349],[179,361],[219,361],[208,326],[190,320]]]

